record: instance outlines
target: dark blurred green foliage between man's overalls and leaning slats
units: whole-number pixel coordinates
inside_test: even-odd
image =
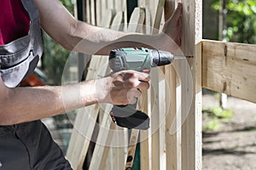
[[[73,14],[73,3],[71,0],[61,0],[61,3]],[[48,77],[48,83],[52,85],[61,84],[61,75],[68,58],[69,52],[62,48],[43,31],[44,57],[42,67]]]

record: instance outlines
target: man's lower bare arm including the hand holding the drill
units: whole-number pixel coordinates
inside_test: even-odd
[[[140,95],[137,88],[147,89],[148,81],[148,74],[120,71],[63,87],[7,88],[0,77],[0,125],[38,120],[98,102],[134,103]]]

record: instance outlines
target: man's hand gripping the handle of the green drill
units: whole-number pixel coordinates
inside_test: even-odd
[[[139,89],[149,88],[149,75],[137,71],[119,71],[96,81],[99,102],[127,105],[137,101]]]

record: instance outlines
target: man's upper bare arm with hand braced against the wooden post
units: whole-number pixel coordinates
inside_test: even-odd
[[[166,22],[164,32],[149,36],[91,26],[76,20],[58,0],[34,2],[39,10],[41,26],[56,42],[69,50],[108,55],[113,48],[145,47],[174,52],[180,45],[181,4]]]

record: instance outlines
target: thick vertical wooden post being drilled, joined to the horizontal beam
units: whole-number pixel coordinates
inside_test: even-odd
[[[194,56],[189,59],[192,71],[194,92],[189,115],[182,117],[182,169],[201,169],[201,54],[195,53],[195,44],[201,42],[202,34],[202,1],[186,1],[183,3],[183,54]],[[193,68],[193,69],[192,69]],[[182,72],[181,77],[186,77],[188,72]],[[183,83],[183,82],[181,82]],[[186,85],[186,84],[183,84]],[[183,86],[182,86],[183,87]],[[191,87],[190,87],[191,88]],[[182,89],[183,91],[186,89]],[[183,101],[183,96],[182,96]],[[182,103],[181,107],[188,107]],[[183,115],[183,112],[182,112]]]

